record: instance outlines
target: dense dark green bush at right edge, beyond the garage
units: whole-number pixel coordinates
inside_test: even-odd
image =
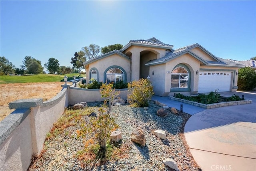
[[[252,90],[256,87],[256,72],[250,68],[240,68],[238,74],[238,90]]]

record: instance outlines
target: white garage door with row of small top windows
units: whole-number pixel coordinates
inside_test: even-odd
[[[231,72],[200,72],[198,93],[230,91]]]

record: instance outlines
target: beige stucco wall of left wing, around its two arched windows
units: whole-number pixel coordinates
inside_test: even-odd
[[[102,58],[100,60],[97,60],[95,62],[92,62],[91,64],[89,64],[88,66],[86,66],[86,83],[89,83],[90,80],[90,70],[92,68],[96,68],[98,70],[98,81],[99,82],[105,82],[104,80],[104,72],[106,71],[106,69],[110,66],[120,66],[122,67],[125,72],[126,72],[126,78],[127,81],[126,82],[130,82],[130,70],[131,70],[131,66],[130,66],[130,60],[118,55],[118,54],[113,54],[111,56],[108,56],[106,58]]]

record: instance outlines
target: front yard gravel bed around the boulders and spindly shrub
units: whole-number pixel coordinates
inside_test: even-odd
[[[97,113],[99,103],[88,103],[89,107],[83,110],[92,110]],[[200,171],[194,161],[183,134],[184,125],[190,115],[180,113],[174,115],[168,111],[166,117],[159,117],[156,111],[158,105],[150,103],[147,110],[142,107],[118,105],[112,108],[112,115],[122,131],[122,147],[127,154],[118,160],[110,160],[102,165],[96,162],[85,163],[76,156],[78,151],[84,149],[84,140],[77,138],[76,131],[80,129],[80,120],[72,120],[75,125],[66,127],[63,133],[52,137],[45,143],[40,157],[34,159],[29,171],[172,171],[163,163],[164,159],[172,158],[178,164],[180,171]],[[89,119],[83,116],[82,119]],[[140,146],[130,141],[131,133],[140,127],[146,136],[146,145]],[[166,131],[167,140],[157,138],[153,131],[162,129]]]

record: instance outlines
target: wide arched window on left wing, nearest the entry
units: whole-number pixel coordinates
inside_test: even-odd
[[[124,81],[124,72],[120,70],[119,68],[110,68],[106,72],[106,82],[109,83],[116,83]]]

